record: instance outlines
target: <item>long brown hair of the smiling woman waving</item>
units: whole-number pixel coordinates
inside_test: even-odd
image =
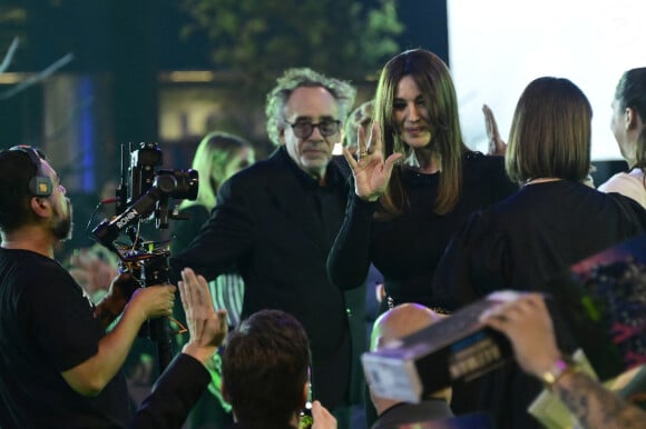
[[[431,127],[431,147],[440,157],[440,180],[434,212],[451,211],[462,187],[462,154],[467,147],[458,113],[458,98],[447,64],[434,53],[422,49],[401,52],[392,58],[381,71],[374,102],[374,120],[383,136],[383,156],[394,152],[408,154],[411,150],[398,133],[393,114],[397,86],[410,76],[424,96]],[[381,197],[379,217],[392,218],[402,213],[408,206],[408,194],[402,181],[402,170],[395,166],[384,194]]]

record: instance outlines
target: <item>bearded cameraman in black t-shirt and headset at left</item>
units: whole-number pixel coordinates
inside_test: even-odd
[[[98,306],[90,303],[71,276],[53,260],[55,247],[71,231],[71,206],[65,193],[42,153],[30,147],[0,151],[3,429],[126,427],[131,418],[130,405],[119,369],[141,323],[168,316],[173,309],[174,286],[137,288],[133,292],[134,282],[128,281],[127,275],[116,279]],[[194,278],[184,281],[196,282]],[[120,320],[106,333],[106,327],[119,315]],[[188,351],[194,358],[199,357]],[[174,367],[185,363],[176,361]],[[208,382],[207,375],[202,376],[199,379],[190,375],[195,380],[184,381],[185,388],[200,393]],[[166,379],[165,386],[168,385]],[[164,398],[163,393],[157,396]],[[177,400],[170,408],[189,407],[188,402]]]

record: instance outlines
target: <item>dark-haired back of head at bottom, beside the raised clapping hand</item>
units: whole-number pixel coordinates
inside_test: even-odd
[[[244,320],[223,355],[223,392],[237,421],[290,425],[307,399],[310,342],[303,326],[280,310]]]

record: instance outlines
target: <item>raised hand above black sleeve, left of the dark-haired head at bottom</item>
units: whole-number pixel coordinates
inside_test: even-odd
[[[190,268],[182,271],[178,286],[190,332],[183,351],[206,365],[226,338],[226,310],[215,310],[206,279]]]

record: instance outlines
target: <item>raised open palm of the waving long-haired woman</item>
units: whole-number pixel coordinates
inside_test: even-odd
[[[388,159],[383,159],[383,142],[381,129],[378,123],[372,124],[370,136],[365,137],[363,127],[359,127],[358,158],[343,148],[343,156],[348,160],[352,174],[354,176],[354,191],[356,196],[368,200],[376,201],[385,191],[392,168],[401,153],[392,153]]]

